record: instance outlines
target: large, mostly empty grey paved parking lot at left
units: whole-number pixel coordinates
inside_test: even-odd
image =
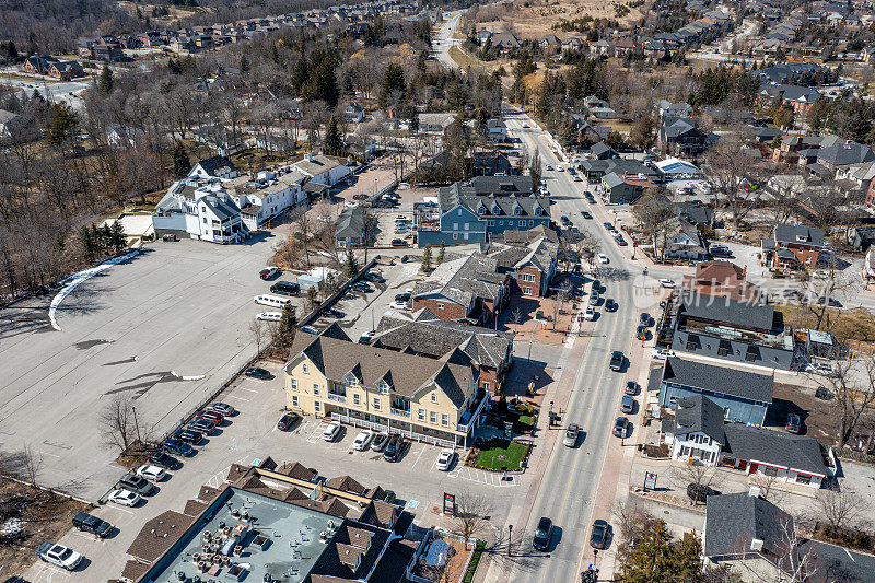
[[[122,471],[97,429],[115,395],[161,434],[254,355],[248,324],[267,308],[253,295],[270,285],[258,270],[271,244],[155,243],[68,295],[61,331],[50,295],[0,311],[0,447],[30,445],[40,482],[96,500]]]

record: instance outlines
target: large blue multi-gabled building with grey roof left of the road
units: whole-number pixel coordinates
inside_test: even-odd
[[[529,176],[476,176],[441,188],[438,203],[416,205],[419,246],[486,243],[504,231],[550,224],[550,200]]]

